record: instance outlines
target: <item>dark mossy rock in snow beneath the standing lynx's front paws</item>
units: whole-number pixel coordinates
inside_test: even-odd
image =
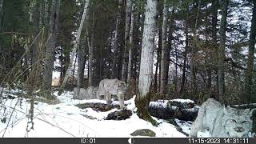
[[[107,115],[106,120],[124,120],[130,118],[132,112],[130,110],[114,111]]]

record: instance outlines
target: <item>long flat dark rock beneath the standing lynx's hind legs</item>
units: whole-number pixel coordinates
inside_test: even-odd
[[[118,105],[109,105],[104,103],[82,103],[75,106],[78,106],[80,109],[92,108],[93,110],[96,110],[96,111],[109,111],[114,108],[119,109]]]

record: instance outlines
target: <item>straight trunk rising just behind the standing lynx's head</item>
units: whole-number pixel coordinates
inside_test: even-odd
[[[129,33],[130,33],[130,14],[132,2],[126,0],[126,31],[125,31],[125,50],[122,57],[122,81],[127,82],[127,68],[128,68],[128,50],[129,50]]]

